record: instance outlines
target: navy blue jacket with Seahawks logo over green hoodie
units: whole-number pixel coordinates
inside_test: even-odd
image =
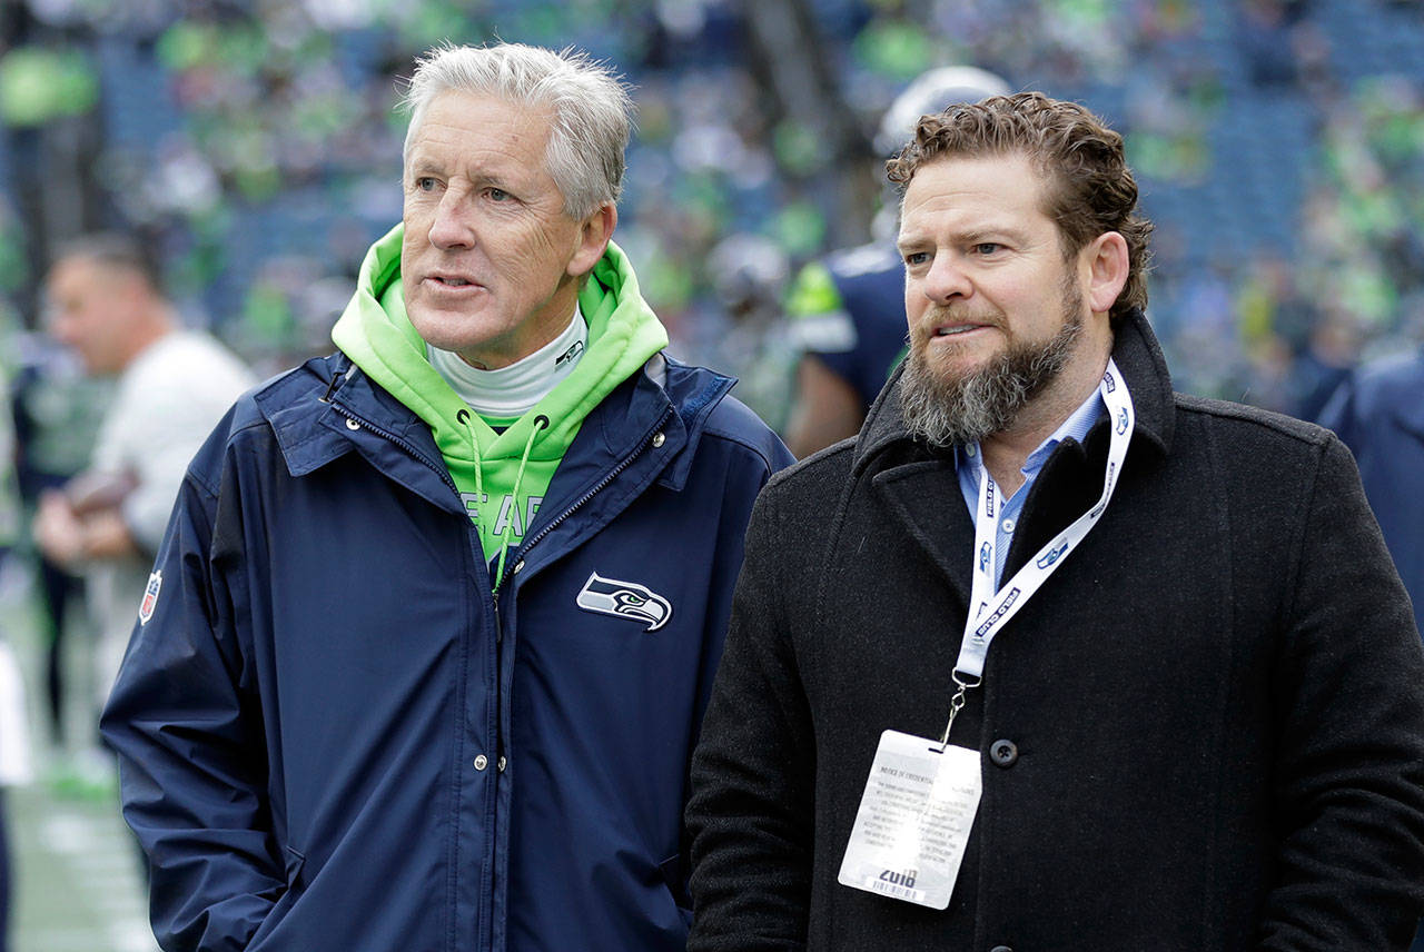
[[[239,400],[103,721],[164,948],[682,949],[691,750],[790,462],[731,386],[621,384],[497,593],[429,428],[345,357]]]

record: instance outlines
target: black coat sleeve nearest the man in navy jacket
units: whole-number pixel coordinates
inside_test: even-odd
[[[789,629],[773,502],[752,509],[726,649],[692,760],[689,952],[803,949],[815,739]]]

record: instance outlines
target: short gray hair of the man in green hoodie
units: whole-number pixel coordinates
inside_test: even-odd
[[[402,105],[410,110],[403,157],[441,92],[490,95],[554,114],[544,164],[564,195],[564,212],[587,218],[622,192],[624,151],[632,131],[632,98],[622,80],[587,54],[521,43],[488,47],[441,44],[416,61]]]

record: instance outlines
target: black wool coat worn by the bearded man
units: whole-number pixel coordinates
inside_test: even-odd
[[[1114,357],[1138,428],[1112,504],[954,724],[984,793],[946,911],[836,874],[880,733],[944,729],[974,546],[953,458],[891,381],[766,487],[692,767],[692,952],[1408,946],[1424,652],[1353,461],[1175,396],[1141,316]],[[1094,505],[1106,447],[1101,421],[1057,448],[1005,579]]]

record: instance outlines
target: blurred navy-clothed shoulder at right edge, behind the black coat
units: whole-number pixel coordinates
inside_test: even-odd
[[[1320,424],[1354,454],[1424,630],[1424,353],[1381,359],[1350,374]]]

